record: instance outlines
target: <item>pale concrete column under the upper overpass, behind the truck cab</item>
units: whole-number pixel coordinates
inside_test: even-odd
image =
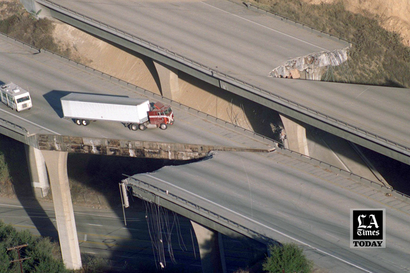
[[[153,61],[155,68],[157,69],[158,76],[160,77],[162,96],[178,101],[180,97],[178,69],[156,60]]]

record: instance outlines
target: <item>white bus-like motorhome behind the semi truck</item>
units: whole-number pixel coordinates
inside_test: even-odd
[[[17,112],[32,107],[30,94],[13,82],[0,86],[0,100]]]

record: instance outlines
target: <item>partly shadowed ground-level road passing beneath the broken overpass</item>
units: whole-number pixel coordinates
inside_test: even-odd
[[[128,264],[135,270],[154,272],[154,252],[145,218],[145,215],[151,216],[151,212],[145,211],[143,201],[138,200],[136,203],[131,202],[133,209],[125,210],[126,226],[121,208],[95,209],[75,205],[74,215],[82,255],[98,257],[113,268],[124,268]],[[55,217],[53,203],[38,203],[29,199],[20,202],[4,196],[0,198],[0,219],[17,230],[28,230],[36,236],[58,240]],[[168,213],[168,217],[169,226],[173,230],[170,234],[164,234],[164,238],[169,235],[176,263],[165,252],[167,268],[202,272],[198,243],[190,221],[172,213]],[[176,222],[173,221],[174,217]],[[223,238],[226,263],[230,271],[238,267],[245,268],[253,254],[263,254],[266,251],[266,247],[257,242],[249,243],[249,240],[235,240],[226,236]],[[246,243],[249,245],[246,246]]]

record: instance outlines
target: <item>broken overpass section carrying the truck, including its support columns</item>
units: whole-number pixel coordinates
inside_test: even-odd
[[[13,81],[29,90],[33,101],[32,109],[20,113],[0,103],[0,134],[27,144],[35,195],[46,195],[51,185],[62,257],[68,268],[81,266],[66,170],[70,167],[68,152],[191,159],[218,149],[274,150],[271,140],[170,100],[164,102],[171,103],[175,124],[165,131],[131,131],[122,123],[103,121],[77,126],[62,118],[60,98],[71,92],[163,98],[51,52],[40,53],[4,35],[0,35],[0,57],[0,81]]]

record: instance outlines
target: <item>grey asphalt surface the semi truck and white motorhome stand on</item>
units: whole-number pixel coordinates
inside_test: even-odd
[[[55,134],[79,137],[103,137],[160,142],[227,145],[267,148],[256,141],[225,127],[211,123],[186,111],[174,108],[175,123],[166,130],[131,131],[120,122],[96,121],[78,126],[62,118],[60,98],[71,93],[142,98],[131,88],[78,68],[74,62],[60,60],[51,54],[33,54],[18,44],[0,37],[0,81],[13,81],[30,92],[33,108],[20,113],[0,103],[1,117],[18,124],[29,134]],[[273,143],[272,143],[273,144]]]

